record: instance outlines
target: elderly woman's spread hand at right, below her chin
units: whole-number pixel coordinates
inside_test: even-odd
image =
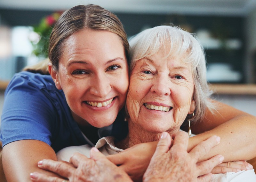
[[[211,171],[214,166],[220,164],[224,157],[214,156],[207,161],[199,162],[200,156],[205,155],[220,142],[220,138],[212,136],[199,143],[189,153],[188,134],[178,132],[171,146],[171,137],[168,133],[162,134],[163,138],[158,142],[156,152],[153,155],[147,171],[143,176],[144,182],[158,181],[210,181]]]

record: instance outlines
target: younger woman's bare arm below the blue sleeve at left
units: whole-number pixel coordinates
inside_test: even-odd
[[[3,167],[7,181],[31,181],[29,174],[34,171],[54,175],[37,167],[38,161],[46,158],[56,160],[56,155],[44,142],[22,140],[7,144],[3,148]]]

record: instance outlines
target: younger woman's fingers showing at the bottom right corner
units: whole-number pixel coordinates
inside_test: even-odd
[[[212,174],[227,173],[227,172],[238,172],[243,170],[253,169],[252,165],[246,161],[234,161],[234,162],[225,162],[217,165],[213,168]]]

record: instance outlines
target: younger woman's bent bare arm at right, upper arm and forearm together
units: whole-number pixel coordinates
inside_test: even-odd
[[[256,156],[256,117],[226,104],[215,102],[216,111],[206,111],[202,122],[191,124],[188,150],[212,135],[220,136],[220,144],[209,153],[221,154],[226,161],[248,160]]]

